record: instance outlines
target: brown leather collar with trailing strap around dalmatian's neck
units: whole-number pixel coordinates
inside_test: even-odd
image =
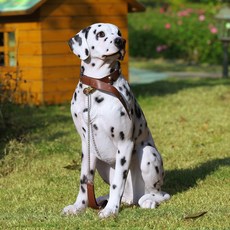
[[[100,78],[100,79],[96,79],[96,78],[92,78],[92,77],[88,77],[86,75],[83,75],[80,77],[80,81],[85,84],[90,86],[89,88],[85,88],[84,89],[84,93],[86,95],[93,93],[96,89],[110,93],[112,95],[114,95],[115,97],[117,97],[120,102],[122,103],[122,105],[124,106],[129,119],[130,118],[130,114],[129,114],[129,110],[127,108],[127,104],[123,98],[123,96],[120,94],[120,92],[114,87],[112,86],[113,82],[115,82],[120,76],[120,71],[116,70],[113,73],[111,73],[110,75]]]

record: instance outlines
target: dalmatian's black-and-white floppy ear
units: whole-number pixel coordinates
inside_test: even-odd
[[[87,44],[89,30],[90,27],[81,30],[68,42],[73,53],[76,54],[81,60],[86,60],[89,57],[89,46]]]

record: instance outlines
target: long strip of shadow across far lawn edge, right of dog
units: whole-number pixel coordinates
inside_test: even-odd
[[[177,93],[180,90],[196,87],[212,87],[217,85],[229,85],[229,79],[218,78],[169,78],[148,84],[133,84],[131,88],[136,97],[165,96]]]

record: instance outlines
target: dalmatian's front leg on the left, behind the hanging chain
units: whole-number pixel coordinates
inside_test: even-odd
[[[96,168],[95,154],[90,154],[90,168],[87,144],[82,142],[82,163],[81,163],[81,176],[80,176],[80,188],[77,199],[73,205],[66,206],[63,210],[64,214],[77,214],[83,211],[88,206],[87,196],[87,182],[94,179],[94,173]]]

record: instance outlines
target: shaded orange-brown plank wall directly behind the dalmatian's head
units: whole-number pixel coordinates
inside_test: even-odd
[[[48,0],[41,7],[46,103],[70,101],[79,80],[80,61],[70,51],[67,41],[81,29],[97,22],[116,24],[127,39],[127,8],[123,0]],[[122,69],[128,76],[128,52]]]

